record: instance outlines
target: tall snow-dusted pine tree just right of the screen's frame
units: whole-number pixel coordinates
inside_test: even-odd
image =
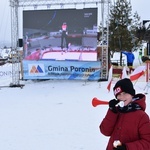
[[[109,16],[109,47],[111,51],[129,51],[134,47],[133,35],[129,30],[132,24],[132,7],[127,0],[117,0],[110,9]],[[122,53],[120,65],[122,65]]]

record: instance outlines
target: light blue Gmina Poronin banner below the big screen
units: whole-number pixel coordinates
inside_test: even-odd
[[[23,60],[23,79],[98,80],[98,61]]]

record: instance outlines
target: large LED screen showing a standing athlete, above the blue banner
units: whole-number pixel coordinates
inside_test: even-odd
[[[97,61],[97,8],[23,11],[25,60]]]

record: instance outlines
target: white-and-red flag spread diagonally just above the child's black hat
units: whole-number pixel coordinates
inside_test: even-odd
[[[130,80],[134,81],[134,80],[139,79],[142,75],[144,75],[145,70],[146,70],[146,66],[137,67],[130,75]]]

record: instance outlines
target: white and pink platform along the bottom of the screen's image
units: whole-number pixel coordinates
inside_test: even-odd
[[[25,57],[25,60],[76,60],[97,61],[97,51],[90,47],[70,46],[68,49],[60,47],[37,48]]]

